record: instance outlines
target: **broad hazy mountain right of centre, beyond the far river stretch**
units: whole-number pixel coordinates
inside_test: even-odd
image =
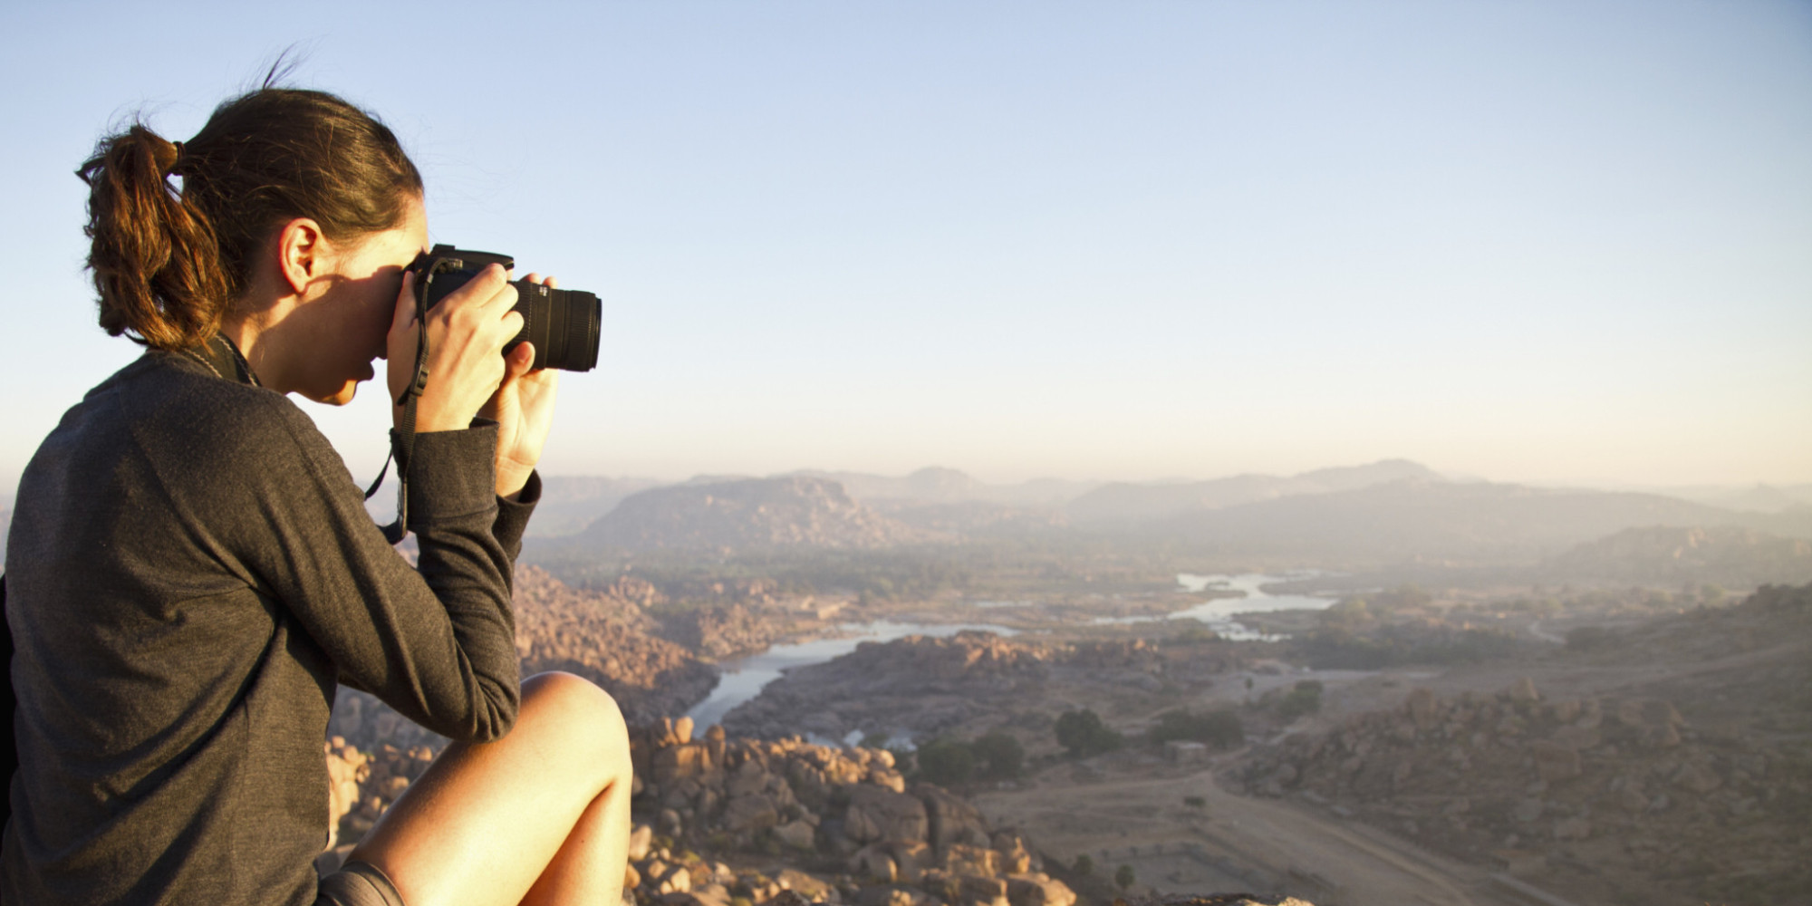
[[[1636,525],[1752,525],[1732,513],[1660,495],[1404,480],[1205,509],[1147,531],[1229,554],[1335,562],[1513,564]]]

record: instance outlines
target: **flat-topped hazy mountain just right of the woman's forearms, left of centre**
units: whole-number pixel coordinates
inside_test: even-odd
[[[623,498],[576,540],[631,551],[888,547],[931,540],[857,504],[826,478],[739,478],[654,487]]]

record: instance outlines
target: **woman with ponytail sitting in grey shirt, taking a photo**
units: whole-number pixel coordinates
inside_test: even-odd
[[[187,143],[105,138],[80,176],[100,323],[149,350],[20,482],[0,899],[618,902],[622,716],[580,678],[518,681],[509,578],[554,375],[500,355],[522,326],[502,268],[428,315],[410,567],[286,399],[344,404],[377,357],[391,400],[413,377],[428,226],[390,129],[266,85]],[[337,683],[455,741],[317,879]]]

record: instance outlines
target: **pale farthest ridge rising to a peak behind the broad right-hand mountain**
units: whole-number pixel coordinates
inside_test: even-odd
[[[1203,509],[1221,509],[1259,500],[1297,495],[1355,491],[1386,482],[1441,480],[1428,466],[1410,460],[1383,460],[1370,466],[1316,469],[1279,478],[1272,475],[1234,475],[1207,482],[1127,484],[1096,487],[1069,502],[1065,511],[1076,524],[1138,524],[1180,516]]]

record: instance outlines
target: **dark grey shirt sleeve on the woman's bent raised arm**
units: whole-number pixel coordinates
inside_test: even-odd
[[[216,515],[221,554],[295,616],[350,685],[437,734],[502,737],[522,698],[511,574],[540,478],[522,502],[496,496],[495,424],[417,435],[411,567],[313,422],[277,395],[265,404],[277,419],[259,419],[223,451],[241,458],[223,471],[245,487]]]

